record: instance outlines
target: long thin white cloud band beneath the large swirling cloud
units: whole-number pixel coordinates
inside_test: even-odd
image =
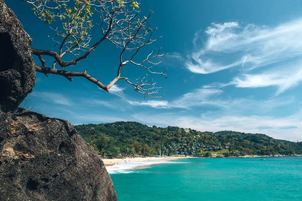
[[[200,88],[192,92],[175,98],[174,100],[145,100],[145,101],[126,101],[132,106],[145,106],[157,109],[187,109],[205,108],[214,106],[223,111],[233,113],[266,113],[274,108],[289,105],[294,102],[293,96],[282,98],[271,97],[269,99],[254,98],[226,98],[223,97],[223,90],[215,88]]]

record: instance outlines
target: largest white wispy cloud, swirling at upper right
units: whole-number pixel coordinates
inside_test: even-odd
[[[199,34],[193,39],[195,46]],[[205,44],[199,49],[195,47],[185,63],[194,73],[208,74],[237,66],[251,70],[302,55],[302,19],[275,27],[212,23],[204,34]]]

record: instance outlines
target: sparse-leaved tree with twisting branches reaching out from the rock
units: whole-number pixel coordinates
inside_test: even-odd
[[[58,47],[57,52],[51,50],[40,50],[31,48],[34,55],[38,56],[41,65],[36,65],[36,71],[48,74],[57,74],[72,81],[72,77],[85,77],[89,81],[97,84],[100,88],[110,91],[110,88],[118,81],[125,80],[135,91],[150,97],[158,96],[158,89],[163,86],[156,86],[153,79],[147,79],[145,75],[142,79],[130,81],[127,77],[121,76],[122,68],[132,64],[147,70],[148,73],[165,76],[166,70],[157,72],[153,67],[160,64],[157,58],[167,54],[161,53],[161,48],[150,52],[143,60],[135,61],[135,56],[141,48],[152,44],[159,38],[154,38],[157,28],[150,27],[148,16],[140,16],[139,3],[132,0],[23,0],[32,5],[35,15],[49,24],[55,32],[50,39]],[[98,15],[96,17],[96,15]],[[94,22],[99,20],[99,23]],[[92,28],[98,26],[102,36],[92,43]],[[116,77],[107,85],[89,75],[86,71],[74,72],[57,69],[77,64],[87,58],[92,51],[105,40],[110,41],[120,49],[119,65],[117,66]],[[125,52],[131,52],[125,59]],[[62,57],[72,54],[73,60],[63,61]],[[129,54],[127,54],[129,55]],[[43,56],[54,58],[52,66],[47,67]]]

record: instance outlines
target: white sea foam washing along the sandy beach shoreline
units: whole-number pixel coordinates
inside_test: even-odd
[[[181,162],[172,162],[172,161],[165,161],[165,160],[148,160],[148,161],[122,161],[118,164],[114,164],[112,166],[107,166],[107,171],[110,174],[113,173],[132,173],[134,168],[139,168],[139,167],[147,167],[149,165],[154,165],[154,164],[160,164],[160,163],[181,163]],[[139,173],[139,172],[138,172]]]

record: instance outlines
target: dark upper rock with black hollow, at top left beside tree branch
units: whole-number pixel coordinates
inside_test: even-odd
[[[14,111],[35,85],[30,45],[14,12],[0,0],[0,109]]]

